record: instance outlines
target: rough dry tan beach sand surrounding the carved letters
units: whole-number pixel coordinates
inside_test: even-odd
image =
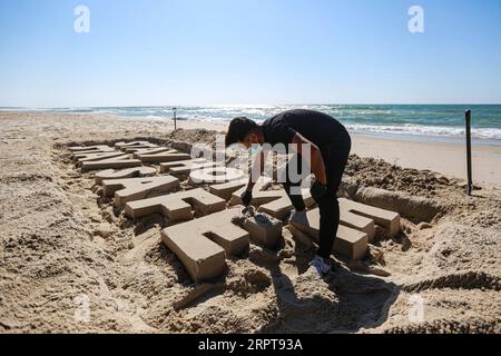
[[[463,181],[444,169],[449,160],[435,162],[438,146],[421,145],[416,152],[416,142],[355,138],[362,156],[399,157],[403,166],[442,175],[352,156],[344,194],[384,188],[425,198],[441,214],[430,224],[404,218],[403,234],[379,234],[370,260],[340,260],[331,280],[306,271],[314,248],[284,230],[277,251],[252,245],[247,258],[228,261],[217,284],[195,286],[160,243],[164,220],[132,224],[117,215],[63,148],[136,138],[212,142],[215,132],[200,127],[226,128],[180,126],[194,130],[173,134],[171,122],[108,116],[0,113],[0,332],[501,332],[495,148],[479,154],[478,171],[494,171],[484,179],[489,184],[465,197]],[[383,270],[391,275],[382,277]],[[415,300],[424,303],[419,323],[409,317]]]

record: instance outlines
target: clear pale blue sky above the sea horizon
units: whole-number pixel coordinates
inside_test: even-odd
[[[0,82],[0,107],[501,103],[501,1],[1,0]]]

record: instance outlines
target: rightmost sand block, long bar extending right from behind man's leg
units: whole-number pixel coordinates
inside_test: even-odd
[[[387,229],[392,237],[400,233],[400,215],[397,212],[380,209],[344,198],[340,199],[340,208],[342,211],[350,211],[374,220],[375,224]],[[373,237],[374,235],[372,235],[372,238]]]

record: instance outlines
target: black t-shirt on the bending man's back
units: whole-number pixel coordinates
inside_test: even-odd
[[[345,127],[333,117],[313,110],[289,110],[278,113],[263,123],[265,142],[272,147],[292,144],[293,137],[302,135],[318,148],[347,146],[351,144]]]

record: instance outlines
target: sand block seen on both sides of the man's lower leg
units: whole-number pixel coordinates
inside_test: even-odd
[[[320,209],[306,212],[305,221],[294,221],[292,226],[318,243]],[[367,234],[340,225],[333,250],[351,259],[362,259],[367,253]]]

